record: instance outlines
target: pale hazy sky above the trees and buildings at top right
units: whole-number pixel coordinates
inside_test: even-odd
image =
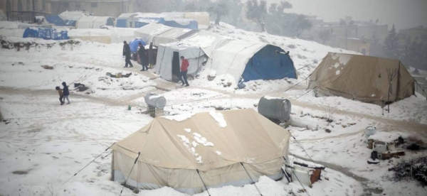
[[[267,0],[269,3],[280,0]],[[289,12],[320,16],[325,21],[338,21],[352,16],[355,21],[379,19],[393,23],[396,28],[427,27],[427,0],[288,0],[293,9]]]

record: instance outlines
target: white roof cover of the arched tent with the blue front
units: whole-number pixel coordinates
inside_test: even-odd
[[[217,75],[232,75],[238,82],[248,61],[266,45],[243,40],[216,40],[210,47],[203,48],[209,56],[206,68],[216,70]]]

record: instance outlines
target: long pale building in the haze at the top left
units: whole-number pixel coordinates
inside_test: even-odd
[[[51,0],[52,13],[87,11],[95,16],[117,17],[133,12],[133,0]]]

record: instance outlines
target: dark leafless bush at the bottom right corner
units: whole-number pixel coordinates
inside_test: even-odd
[[[413,158],[412,160],[402,160],[389,171],[394,171],[393,180],[418,180],[421,185],[427,185],[427,156]]]

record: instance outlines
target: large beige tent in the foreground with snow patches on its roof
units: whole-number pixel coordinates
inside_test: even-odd
[[[168,186],[189,195],[204,191],[201,178],[208,188],[242,186],[261,175],[278,180],[289,137],[253,109],[158,117],[112,146],[112,180],[130,175],[129,187]]]

